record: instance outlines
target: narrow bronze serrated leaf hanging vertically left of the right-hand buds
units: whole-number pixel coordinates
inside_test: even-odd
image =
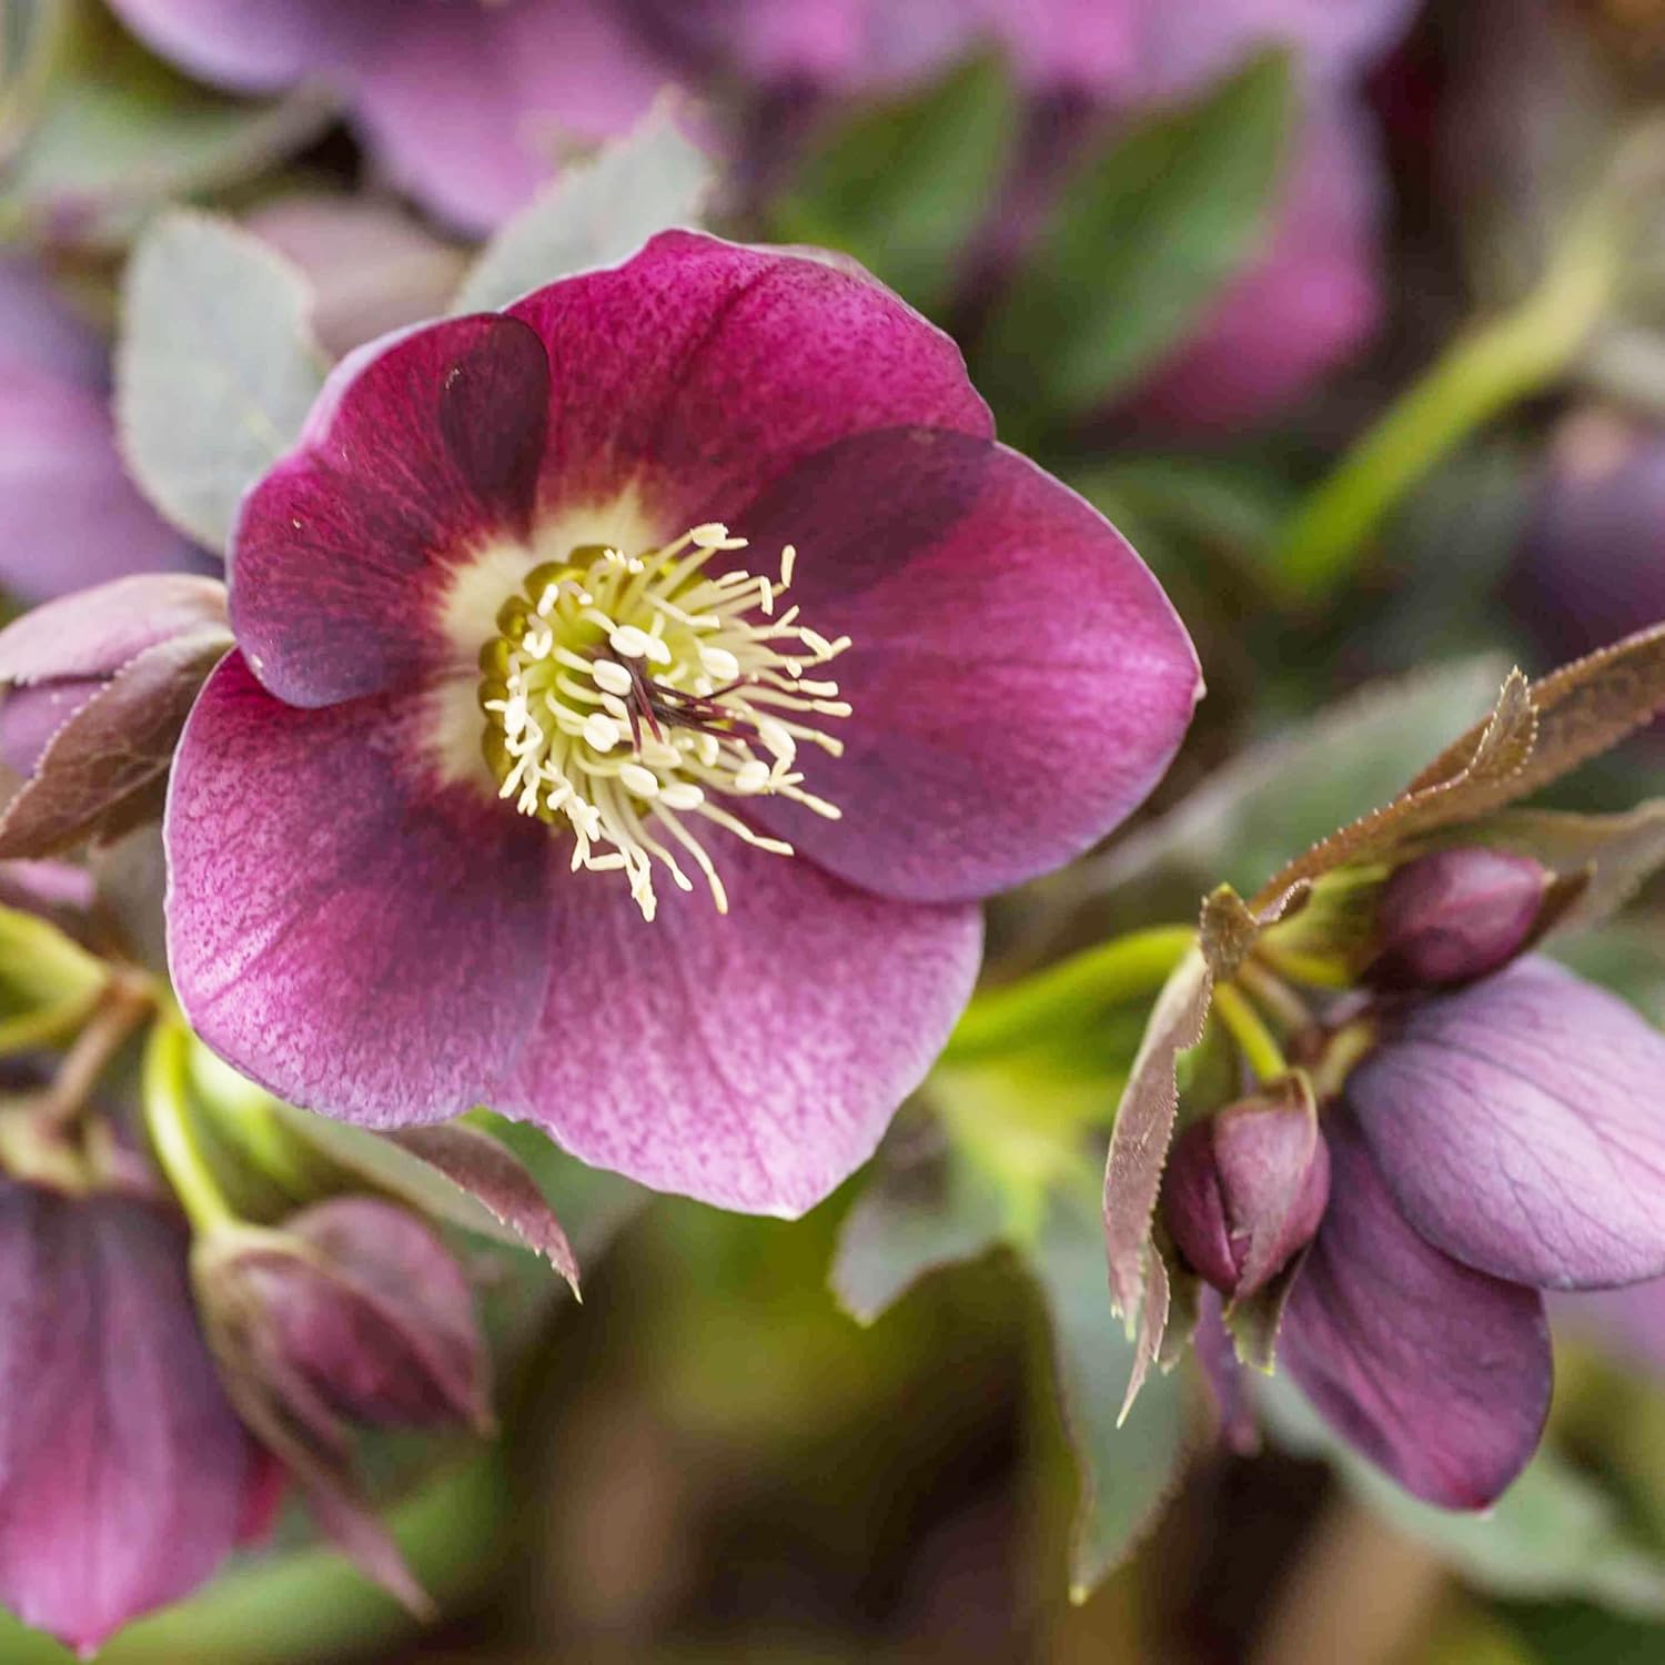
[[[1104,1166],[1104,1244],[1111,1269],[1111,1299],[1129,1325],[1136,1317],[1142,1317],[1142,1327],[1149,1330],[1154,1320],[1157,1344],[1167,1322],[1166,1295],[1161,1312],[1152,1312],[1149,1300],[1142,1305],[1141,1295],[1146,1289],[1147,1262],[1154,1260],[1149,1252],[1151,1220],[1179,1109],[1174,1067],[1179,1054],[1202,1039],[1212,996],[1214,979],[1209,976],[1202,949],[1192,949],[1157,996],[1122,1102],[1116,1111],[1109,1159]],[[1156,1347],[1149,1357],[1154,1355]],[[1144,1349],[1141,1360],[1149,1362]],[[1136,1365],[1136,1377],[1142,1380],[1142,1365]]]

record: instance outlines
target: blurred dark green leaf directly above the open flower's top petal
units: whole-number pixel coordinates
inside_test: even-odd
[[[846,125],[774,210],[774,235],[854,255],[927,313],[952,295],[959,258],[989,211],[1017,137],[997,58]]]

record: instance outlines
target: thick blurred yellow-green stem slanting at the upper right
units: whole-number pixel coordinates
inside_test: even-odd
[[[1342,583],[1370,534],[1435,463],[1560,380],[1608,311],[1617,283],[1610,240],[1580,235],[1518,306],[1459,336],[1284,526],[1272,548],[1284,581],[1305,596]]]

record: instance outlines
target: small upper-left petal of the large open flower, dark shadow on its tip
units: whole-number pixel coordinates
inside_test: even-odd
[[[495,313],[336,366],[233,534],[231,623],[271,693],[326,706],[443,664],[448,571],[526,534],[548,386],[538,338]]]

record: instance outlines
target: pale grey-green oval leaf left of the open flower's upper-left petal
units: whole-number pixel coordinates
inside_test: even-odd
[[[323,385],[305,278],[225,220],[163,215],[127,273],[117,423],[152,503],[225,551],[243,493],[288,451]]]

